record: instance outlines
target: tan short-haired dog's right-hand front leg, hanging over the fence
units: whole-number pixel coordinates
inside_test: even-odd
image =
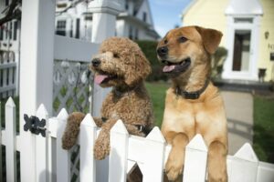
[[[214,141],[208,148],[208,181],[227,182],[227,147]]]

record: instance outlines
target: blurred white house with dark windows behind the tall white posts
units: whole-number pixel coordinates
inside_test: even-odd
[[[79,3],[80,2],[80,3]],[[58,0],[56,32],[79,39],[91,40],[91,1]],[[148,0],[121,0],[121,13],[116,20],[116,35],[133,40],[157,40]]]

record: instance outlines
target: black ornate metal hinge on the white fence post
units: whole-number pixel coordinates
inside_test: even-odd
[[[36,135],[41,134],[41,136],[46,137],[47,128],[45,127],[46,126],[45,119],[39,120],[37,116],[29,117],[27,115],[24,115],[24,120],[26,122],[26,124],[24,125],[25,131],[29,130],[33,134],[36,134]]]

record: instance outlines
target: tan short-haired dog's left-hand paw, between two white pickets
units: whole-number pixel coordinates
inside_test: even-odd
[[[174,181],[183,173],[184,164],[182,161],[169,157],[165,164],[165,172],[168,180]]]

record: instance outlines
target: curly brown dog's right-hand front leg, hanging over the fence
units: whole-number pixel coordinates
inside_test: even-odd
[[[110,155],[110,131],[116,122],[117,119],[109,119],[101,126],[100,134],[94,145],[95,159],[101,160]]]

